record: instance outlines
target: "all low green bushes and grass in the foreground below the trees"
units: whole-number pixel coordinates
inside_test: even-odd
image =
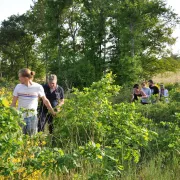
[[[112,103],[120,89],[112,74],[74,89],[52,136],[23,135],[20,112],[1,97],[0,178],[178,179],[179,89],[171,91],[170,103],[147,106]]]

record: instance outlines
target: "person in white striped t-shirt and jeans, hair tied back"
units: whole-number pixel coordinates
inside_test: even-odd
[[[14,89],[11,104],[11,107],[16,107],[18,101],[18,110],[23,112],[25,122],[23,133],[29,134],[30,136],[37,133],[37,107],[39,98],[42,98],[43,103],[51,114],[55,115],[49,100],[45,96],[43,87],[32,81],[34,75],[35,72],[27,68],[19,71],[20,84],[18,84]]]

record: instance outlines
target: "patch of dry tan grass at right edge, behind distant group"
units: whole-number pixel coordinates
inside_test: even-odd
[[[171,83],[180,83],[180,71],[176,73],[173,72],[166,72],[164,74],[159,74],[153,78],[155,83],[164,83],[164,84],[171,84]]]

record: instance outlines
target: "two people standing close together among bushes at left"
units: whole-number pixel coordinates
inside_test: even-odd
[[[64,104],[64,91],[57,84],[56,75],[50,75],[45,85],[33,82],[34,75],[35,72],[27,68],[19,71],[20,84],[14,89],[11,107],[16,107],[18,101],[18,110],[22,111],[24,119],[24,134],[34,135],[44,131],[46,123],[52,133],[53,117]]]

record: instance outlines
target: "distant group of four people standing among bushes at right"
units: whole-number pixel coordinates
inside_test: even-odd
[[[165,89],[163,84],[161,84],[160,88],[158,88],[154,84],[153,80],[149,80],[148,85],[149,87],[146,86],[146,82],[142,82],[141,87],[139,84],[135,84],[133,86],[131,101],[136,102],[140,99],[141,104],[149,104],[156,103],[164,98],[165,101],[168,102],[168,90]]]

